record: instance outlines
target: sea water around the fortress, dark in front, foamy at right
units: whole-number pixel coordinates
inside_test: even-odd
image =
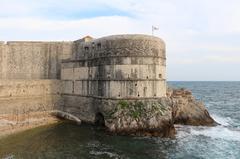
[[[240,82],[169,82],[205,102],[217,127],[177,126],[175,139],[116,136],[91,125],[59,123],[0,140],[0,158],[240,158]]]

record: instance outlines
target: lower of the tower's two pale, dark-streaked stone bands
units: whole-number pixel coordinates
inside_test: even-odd
[[[64,81],[64,94],[102,98],[156,98],[165,96],[162,81]]]

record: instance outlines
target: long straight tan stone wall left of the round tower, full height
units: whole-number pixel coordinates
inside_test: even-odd
[[[61,61],[71,56],[72,42],[0,43],[0,135],[57,121]]]

